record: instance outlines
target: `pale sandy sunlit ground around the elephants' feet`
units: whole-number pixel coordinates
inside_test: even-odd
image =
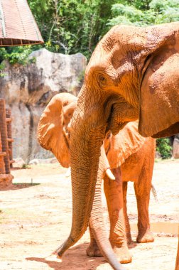
[[[125,265],[126,269],[175,269],[179,211],[179,188],[176,184],[178,168],[179,161],[155,163],[153,184],[158,193],[158,202],[151,194],[150,204],[155,242],[133,242],[129,246],[133,261]],[[62,261],[48,258],[70,232],[72,199],[70,178],[65,178],[66,170],[57,163],[12,171],[13,182],[18,185],[0,191],[1,270],[112,269],[104,258],[87,257],[88,231],[75,247],[65,253]],[[136,197],[132,185],[129,183],[127,206],[132,223],[132,239],[136,240]],[[104,219],[109,228],[105,202]]]

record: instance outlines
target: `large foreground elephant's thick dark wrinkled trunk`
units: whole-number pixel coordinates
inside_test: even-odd
[[[86,136],[85,129],[76,126],[80,137]],[[72,247],[85,233],[92,210],[100,147],[104,138],[105,126],[89,132],[88,143],[78,141],[77,132],[70,137],[71,177],[72,177],[72,227],[69,237],[54,252],[58,257]],[[81,132],[81,134],[80,134]],[[85,149],[87,148],[87,149]],[[86,153],[87,152],[87,153]]]

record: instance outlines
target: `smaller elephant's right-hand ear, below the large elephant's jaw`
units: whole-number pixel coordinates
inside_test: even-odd
[[[111,168],[121,166],[126,158],[139,151],[145,143],[146,138],[139,134],[138,124],[138,121],[129,122],[118,134],[109,138],[111,141],[107,158]]]

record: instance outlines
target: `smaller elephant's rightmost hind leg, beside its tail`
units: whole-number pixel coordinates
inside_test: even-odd
[[[148,205],[151,193],[151,177],[144,167],[139,176],[139,180],[134,183],[138,209],[138,243],[153,242],[153,234],[150,229]]]

